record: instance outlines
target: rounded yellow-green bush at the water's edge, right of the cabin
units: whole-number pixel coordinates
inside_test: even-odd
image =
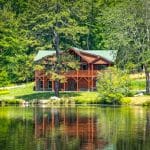
[[[123,96],[130,93],[128,74],[117,68],[108,68],[98,75],[97,89],[100,94],[100,103],[121,104]]]

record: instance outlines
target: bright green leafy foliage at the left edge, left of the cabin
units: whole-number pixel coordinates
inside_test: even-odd
[[[8,3],[0,9],[0,86],[32,78],[33,59],[27,55],[27,38],[11,6]]]

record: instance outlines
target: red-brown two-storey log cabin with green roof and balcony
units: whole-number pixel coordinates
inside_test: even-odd
[[[60,91],[93,91],[96,90],[97,73],[113,66],[116,50],[81,50],[69,48],[68,53],[78,59],[79,70],[65,73],[66,82],[60,84]],[[62,52],[63,54],[63,52]],[[54,50],[41,50],[35,56],[35,63],[55,56]],[[54,82],[42,70],[35,70],[35,90],[54,91]]]

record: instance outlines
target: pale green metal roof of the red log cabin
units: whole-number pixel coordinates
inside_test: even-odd
[[[117,56],[117,50],[81,50],[78,48],[72,48],[76,51],[87,52],[89,54],[101,56],[102,58],[114,62]],[[55,54],[55,50],[40,50],[38,54],[35,56],[34,61],[38,61],[46,56],[50,56]]]

